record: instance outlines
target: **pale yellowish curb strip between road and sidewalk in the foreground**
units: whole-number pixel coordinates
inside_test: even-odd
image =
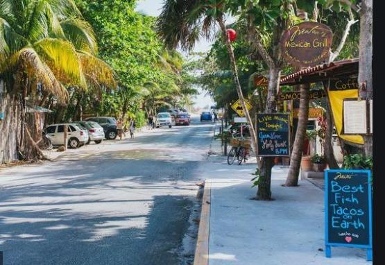
[[[200,212],[200,222],[198,239],[194,255],[194,265],[209,264],[209,228],[211,210],[211,183],[205,182],[202,198],[202,211]]]

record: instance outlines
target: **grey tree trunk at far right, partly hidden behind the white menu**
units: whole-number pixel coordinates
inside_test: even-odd
[[[359,28],[359,96],[363,99],[373,99],[373,0],[361,2]],[[363,140],[365,155],[373,156],[373,137],[366,135]]]

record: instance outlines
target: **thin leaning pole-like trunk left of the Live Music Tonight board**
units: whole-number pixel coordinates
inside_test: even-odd
[[[226,34],[226,27],[225,27],[225,23],[223,22],[222,17],[218,19],[218,23],[219,23],[219,26],[221,27],[223,37],[225,38],[226,46],[228,47],[228,53],[230,55],[230,61],[231,61],[231,65],[232,65],[233,75],[234,75],[235,88],[237,89],[237,94],[238,94],[239,100],[241,101],[243,112],[245,113],[246,119],[248,121],[248,125],[250,128],[251,142],[253,143],[254,150],[257,150],[257,135],[255,135],[253,120],[251,119],[250,113],[248,112],[248,109],[246,108],[245,99],[243,97],[243,93],[242,93],[242,89],[241,89],[241,83],[239,83],[238,70],[237,70],[237,64],[236,64],[235,58],[234,58],[234,52],[232,51],[232,45],[230,42],[230,38]],[[258,160],[258,157],[257,157],[257,160]]]

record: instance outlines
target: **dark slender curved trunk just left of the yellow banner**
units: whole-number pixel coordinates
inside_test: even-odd
[[[330,108],[329,99],[327,99],[327,108],[326,108],[326,113],[325,113],[325,119],[326,119],[326,132],[325,132],[325,139],[323,142],[323,150],[325,152],[325,159],[326,159],[327,164],[329,164],[330,169],[339,169],[339,164],[336,162],[336,157],[334,157],[334,150],[333,150],[333,146],[332,146],[333,119],[332,119],[332,108]]]

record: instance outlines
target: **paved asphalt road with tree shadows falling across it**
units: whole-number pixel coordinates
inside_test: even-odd
[[[212,130],[194,121],[0,171],[4,264],[188,264]]]

